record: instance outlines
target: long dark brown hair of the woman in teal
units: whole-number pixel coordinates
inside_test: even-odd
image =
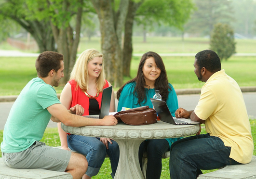
[[[143,102],[144,99],[145,99],[145,102],[147,102],[146,92],[145,92],[145,86],[147,86],[147,85],[146,85],[146,81],[143,77],[142,68],[145,64],[145,61],[150,57],[153,57],[155,59],[155,63],[157,64],[158,68],[161,70],[160,76],[155,80],[155,89],[160,90],[160,94],[162,96],[163,101],[167,100],[168,94],[169,94],[168,89],[171,90],[171,87],[168,85],[168,77],[166,74],[166,70],[165,70],[162,58],[159,54],[157,54],[156,52],[153,52],[153,51],[148,51],[147,53],[144,53],[142,55],[140,63],[139,63],[139,67],[138,67],[137,76],[135,78],[131,79],[130,81],[126,82],[117,91],[117,99],[118,100],[120,98],[123,87],[128,83],[135,82],[136,85],[135,85],[135,90],[134,90],[133,94],[138,98],[138,103],[140,104],[141,102]]]

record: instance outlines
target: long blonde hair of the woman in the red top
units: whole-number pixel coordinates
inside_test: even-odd
[[[95,49],[87,49],[83,51],[78,57],[71,73],[69,80],[75,80],[77,85],[84,92],[88,89],[88,63],[93,60],[95,57],[102,57],[103,62],[103,54]],[[97,92],[101,92],[103,87],[105,86],[105,72],[104,65],[102,64],[102,71],[99,77],[96,78],[96,86]]]

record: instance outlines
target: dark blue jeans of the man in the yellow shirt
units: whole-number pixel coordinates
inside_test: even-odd
[[[229,158],[231,147],[209,134],[201,134],[175,141],[171,145],[171,179],[196,179],[201,169],[211,170],[240,164]]]

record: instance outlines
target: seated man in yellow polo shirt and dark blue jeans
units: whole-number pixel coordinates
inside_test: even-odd
[[[195,56],[195,74],[205,84],[193,111],[178,108],[177,118],[205,124],[207,134],[183,138],[171,146],[171,179],[196,179],[201,169],[251,161],[254,143],[243,94],[236,81],[221,70],[216,52]]]

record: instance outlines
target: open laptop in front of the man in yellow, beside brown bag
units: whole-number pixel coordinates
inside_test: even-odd
[[[150,101],[152,102],[160,120],[163,122],[167,122],[174,125],[200,124],[199,122],[192,121],[190,119],[185,119],[185,118],[177,119],[173,117],[165,101],[160,101],[153,98],[150,98]]]

